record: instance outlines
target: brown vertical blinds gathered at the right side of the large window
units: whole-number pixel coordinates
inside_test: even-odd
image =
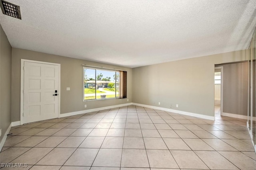
[[[127,72],[119,71],[119,98],[127,98]]]

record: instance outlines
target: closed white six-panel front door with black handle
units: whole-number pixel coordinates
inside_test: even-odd
[[[58,117],[59,83],[58,65],[24,62],[23,123]]]

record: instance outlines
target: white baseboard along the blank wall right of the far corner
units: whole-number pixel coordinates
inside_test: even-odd
[[[148,107],[148,108],[151,108],[151,109],[158,109],[158,110],[163,110],[163,111],[169,111],[169,112],[172,112],[172,113],[178,113],[178,114],[198,117],[198,118],[202,118],[202,119],[215,120],[214,116],[201,115],[201,114],[198,114],[198,113],[191,113],[191,112],[186,112],[186,111],[168,109],[168,108],[157,107],[157,106],[150,106],[150,105],[145,105],[145,104],[137,104],[137,103],[132,103],[132,105],[141,106],[141,107]]]

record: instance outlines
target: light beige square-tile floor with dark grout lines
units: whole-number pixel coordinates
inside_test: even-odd
[[[1,163],[15,170],[255,170],[246,120],[138,106],[12,127]],[[1,168],[1,170],[11,168]]]

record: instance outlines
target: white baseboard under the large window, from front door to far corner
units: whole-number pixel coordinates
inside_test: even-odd
[[[80,115],[80,114],[83,114],[83,113],[90,113],[90,112],[94,112],[94,111],[112,109],[112,108],[115,108],[115,107],[123,107],[123,106],[129,106],[129,105],[132,105],[132,103],[119,104],[119,105],[106,106],[106,107],[99,107],[99,108],[95,108],[95,109],[88,109],[88,110],[81,110],[81,111],[74,111],[74,112],[70,112],[70,113],[63,113],[63,114],[60,114],[60,117]]]

